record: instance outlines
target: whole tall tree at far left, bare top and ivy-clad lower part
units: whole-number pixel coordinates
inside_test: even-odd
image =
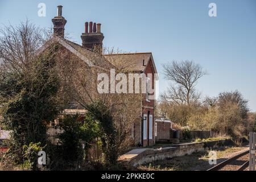
[[[38,55],[47,40],[44,30],[26,22],[0,29],[0,115],[11,130],[10,152],[19,163],[26,160],[23,146],[47,143],[46,122],[57,117],[59,80],[54,49]],[[31,164],[33,169],[36,163]]]

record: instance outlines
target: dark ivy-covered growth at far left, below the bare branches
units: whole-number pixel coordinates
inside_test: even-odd
[[[10,152],[16,155],[17,164],[27,161],[23,146],[31,142],[43,146],[47,143],[46,122],[61,111],[57,97],[59,81],[53,73],[54,55],[49,53],[34,59],[29,72],[0,74],[0,113],[2,122],[12,131]]]

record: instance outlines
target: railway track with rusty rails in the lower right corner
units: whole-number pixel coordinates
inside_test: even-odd
[[[249,150],[226,159],[207,171],[243,171],[249,166]]]

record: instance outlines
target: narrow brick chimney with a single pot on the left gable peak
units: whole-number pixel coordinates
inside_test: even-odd
[[[53,23],[53,35],[60,36],[61,38],[64,38],[64,26],[67,23],[67,20],[62,16],[62,7],[63,6],[57,6],[57,16],[55,16],[52,19]]]

